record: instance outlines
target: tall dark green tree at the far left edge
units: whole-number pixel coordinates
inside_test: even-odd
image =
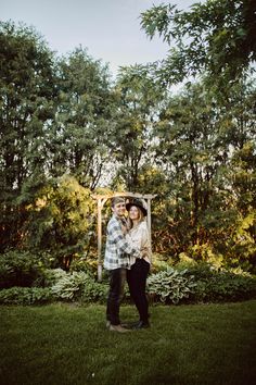
[[[44,135],[54,115],[54,58],[31,28],[0,23],[1,243],[15,245],[23,183],[43,173]]]

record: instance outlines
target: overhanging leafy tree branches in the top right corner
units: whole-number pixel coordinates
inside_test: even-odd
[[[171,47],[158,71],[169,83],[204,72],[212,84],[216,77],[234,80],[256,60],[254,0],[207,0],[189,11],[154,5],[142,13],[141,24],[151,38],[158,33]]]

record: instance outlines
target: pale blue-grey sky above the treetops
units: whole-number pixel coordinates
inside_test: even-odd
[[[188,9],[195,0],[174,0]],[[94,60],[118,67],[166,58],[168,46],[150,40],[140,26],[140,14],[165,0],[0,0],[0,20],[34,26],[57,55],[81,46]]]

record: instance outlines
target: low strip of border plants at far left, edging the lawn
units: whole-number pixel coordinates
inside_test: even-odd
[[[41,305],[51,300],[50,288],[11,287],[0,290],[0,303],[3,305]]]

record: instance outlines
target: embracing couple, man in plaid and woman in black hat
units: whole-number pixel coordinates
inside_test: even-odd
[[[106,325],[110,331],[125,333],[119,319],[119,307],[127,280],[130,296],[140,319],[132,328],[149,327],[149,303],[145,295],[150,271],[150,239],[146,209],[138,199],[126,204],[124,198],[112,199],[113,215],[106,229],[104,268],[110,273],[110,293],[106,306]],[[128,219],[125,213],[128,211]]]

